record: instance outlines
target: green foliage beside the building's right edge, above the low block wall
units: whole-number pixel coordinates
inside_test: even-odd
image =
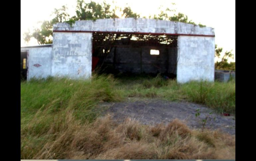
[[[221,58],[221,61],[217,61],[215,63],[215,69],[221,69],[221,70],[235,70],[235,62],[228,63],[229,58],[233,58],[234,54],[232,54],[231,51],[226,51],[221,57],[222,47],[217,47],[215,45],[215,57]]]

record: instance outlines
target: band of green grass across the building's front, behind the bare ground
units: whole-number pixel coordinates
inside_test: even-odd
[[[94,75],[91,80],[52,78],[21,82],[21,116],[35,114],[40,108],[48,113],[71,108],[75,114],[93,119],[100,109],[99,102],[121,101],[125,97],[160,98],[204,104],[218,112],[235,114],[235,82],[189,82],[157,77],[114,78]]]

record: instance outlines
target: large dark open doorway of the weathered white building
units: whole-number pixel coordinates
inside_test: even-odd
[[[177,75],[177,36],[94,32],[92,71]]]

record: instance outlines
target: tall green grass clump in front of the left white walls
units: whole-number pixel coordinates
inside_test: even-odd
[[[91,80],[49,77],[22,82],[21,126],[35,119],[34,132],[41,133],[57,114],[61,117],[64,110],[74,110],[80,120],[93,121],[102,110],[96,108],[99,102],[123,99],[121,91],[115,90],[115,84],[110,75],[94,75]]]

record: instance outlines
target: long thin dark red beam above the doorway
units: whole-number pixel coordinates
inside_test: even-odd
[[[58,33],[114,33],[114,34],[144,34],[144,35],[173,35],[173,36],[201,36],[201,37],[215,37],[215,35],[196,35],[196,34],[167,34],[167,33],[140,33],[140,32],[113,32],[113,31],[58,31],[53,32]]]

